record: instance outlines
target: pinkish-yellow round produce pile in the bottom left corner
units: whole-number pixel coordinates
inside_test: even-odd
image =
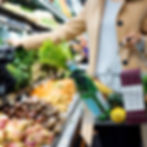
[[[36,122],[0,116],[0,147],[41,147],[53,139],[53,134]]]

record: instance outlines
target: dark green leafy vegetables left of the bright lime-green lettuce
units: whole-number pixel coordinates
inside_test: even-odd
[[[14,61],[7,65],[7,70],[16,80],[15,90],[30,84],[31,67],[36,60],[36,51],[27,51],[22,48],[16,50]]]

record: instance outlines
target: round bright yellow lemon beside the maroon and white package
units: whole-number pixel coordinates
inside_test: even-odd
[[[110,117],[113,122],[122,123],[126,119],[126,111],[121,107],[116,107],[111,111]]]

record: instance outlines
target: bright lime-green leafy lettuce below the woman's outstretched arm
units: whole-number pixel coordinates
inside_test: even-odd
[[[70,49],[66,43],[54,44],[52,41],[44,42],[39,50],[39,60],[55,68],[66,68],[66,63],[72,58]]]

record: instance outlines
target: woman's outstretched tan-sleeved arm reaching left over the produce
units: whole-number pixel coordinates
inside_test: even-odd
[[[80,35],[85,30],[85,9],[83,9],[83,11],[77,17],[71,19],[64,25],[61,25],[53,32],[35,34],[21,40],[10,40],[10,43],[16,46],[21,45],[26,49],[35,49],[39,48],[44,41],[49,39],[56,43],[62,40],[74,39],[77,35]]]

